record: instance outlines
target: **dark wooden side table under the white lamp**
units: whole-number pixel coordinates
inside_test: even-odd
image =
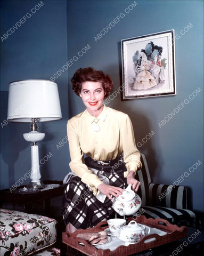
[[[17,191],[11,193],[10,189],[0,190],[0,202],[1,203],[12,203],[13,210],[15,210],[15,204],[23,205],[23,210],[28,213],[33,213],[32,206],[37,202],[45,202],[45,214],[49,214],[50,210],[50,201],[51,198],[62,196],[64,188],[66,185],[63,185],[62,181],[52,181],[46,180],[43,181],[45,185],[58,184],[58,187],[47,190],[39,190],[34,193],[22,194]],[[20,186],[23,188],[25,186]]]

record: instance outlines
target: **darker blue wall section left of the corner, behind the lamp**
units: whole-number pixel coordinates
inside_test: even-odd
[[[26,21],[22,17],[26,17]],[[50,79],[51,75],[63,66],[62,63],[67,62],[67,2],[1,1],[1,19],[1,189],[3,189],[15,184],[19,185],[19,182],[23,181],[22,177],[25,178],[25,173],[31,167],[31,145],[23,139],[23,133],[29,132],[29,124],[4,125],[7,117],[9,83],[22,79]],[[9,32],[9,37],[3,39],[4,34],[12,27],[18,29],[12,34]],[[43,180],[62,180],[69,171],[68,145],[64,145],[66,150],[63,150],[63,153],[56,147],[66,137],[68,73],[63,73],[57,83],[63,119],[38,125],[39,131],[45,132],[45,139],[38,143]],[[27,183],[29,180],[24,181],[23,184]]]

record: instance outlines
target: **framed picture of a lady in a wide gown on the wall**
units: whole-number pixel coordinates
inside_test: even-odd
[[[174,30],[121,40],[123,100],[176,94]]]

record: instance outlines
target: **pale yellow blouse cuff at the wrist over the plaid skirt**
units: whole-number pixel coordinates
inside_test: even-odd
[[[97,175],[85,172],[81,177],[81,181],[90,185],[90,188],[93,191],[94,196],[99,195],[100,191],[97,189],[97,186],[103,184],[103,182],[97,177]]]

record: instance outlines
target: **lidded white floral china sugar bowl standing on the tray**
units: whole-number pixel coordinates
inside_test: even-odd
[[[150,228],[142,224],[138,224],[136,221],[132,220],[129,224],[117,232],[117,237],[127,243],[137,243],[145,235],[150,234]]]

